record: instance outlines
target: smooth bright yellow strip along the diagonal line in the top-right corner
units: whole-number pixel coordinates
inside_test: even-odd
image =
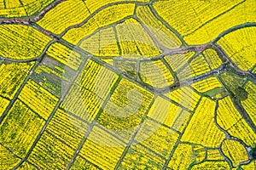
[[[219,3],[218,1],[215,2]],[[233,8],[227,8],[228,10],[226,10],[226,12],[217,15],[214,20],[208,21],[207,23],[202,23],[204,25],[201,25],[199,29],[185,36],[184,41],[188,42],[189,44],[203,44],[211,42],[222,32],[229,30],[234,26],[255,22],[256,4],[254,0],[240,0],[232,2],[223,1],[222,3],[233,3]],[[221,3],[219,4],[223,5]],[[211,6],[213,7],[214,5]],[[234,41],[234,43],[236,43],[236,41]]]

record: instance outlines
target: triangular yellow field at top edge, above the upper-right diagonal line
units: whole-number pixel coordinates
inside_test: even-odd
[[[241,3],[241,0],[230,2],[219,2],[217,0],[211,2],[196,0],[177,2],[175,0],[168,0],[154,3],[154,8],[170,26],[185,36],[196,31],[203,24],[224,13],[237,3]],[[194,41],[196,41],[196,38]],[[190,44],[193,41],[188,42]]]

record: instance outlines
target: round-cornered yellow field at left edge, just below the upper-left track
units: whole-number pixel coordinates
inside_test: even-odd
[[[0,26],[0,54],[9,59],[37,58],[50,40],[32,26]]]

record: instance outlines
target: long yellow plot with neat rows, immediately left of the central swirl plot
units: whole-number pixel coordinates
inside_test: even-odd
[[[88,60],[62,102],[61,108],[92,122],[118,78],[113,71]]]

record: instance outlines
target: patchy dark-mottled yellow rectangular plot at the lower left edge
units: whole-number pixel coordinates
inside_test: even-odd
[[[44,120],[20,100],[16,100],[1,124],[0,143],[14,150],[17,156],[26,156],[43,127]]]

